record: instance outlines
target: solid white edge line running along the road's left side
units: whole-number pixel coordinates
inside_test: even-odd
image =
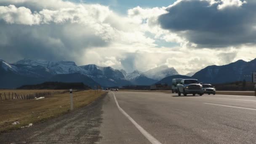
[[[112,92],[113,93],[113,92]],[[138,128],[138,130],[152,143],[152,144],[161,144],[157,139],[155,139],[151,134],[149,134],[146,130],[144,130],[144,128],[142,128],[138,123],[136,123],[136,121],[133,120],[133,118],[131,118],[118,104],[117,99],[115,97],[115,93],[113,93],[114,95],[114,99],[115,99],[115,103],[117,104],[117,108],[120,110],[120,112],[123,113],[123,115],[125,115],[132,123],[133,125],[136,126],[136,128]]]

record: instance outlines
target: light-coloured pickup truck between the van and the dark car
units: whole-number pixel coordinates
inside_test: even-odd
[[[181,96],[181,93],[183,93],[184,96],[187,96],[187,94],[199,94],[200,96],[203,95],[203,86],[198,83],[198,80],[196,79],[182,79],[181,83],[177,85],[178,94]]]

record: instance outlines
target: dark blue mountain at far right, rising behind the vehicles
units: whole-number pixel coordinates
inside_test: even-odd
[[[223,66],[208,66],[193,75],[203,83],[229,83],[235,81],[251,81],[251,74],[256,71],[256,59],[246,62],[235,61]]]

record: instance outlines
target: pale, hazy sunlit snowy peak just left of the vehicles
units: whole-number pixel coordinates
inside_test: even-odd
[[[147,72],[144,72],[144,75],[154,80],[161,80],[164,77],[168,77],[171,75],[179,75],[179,73],[173,67],[162,65],[160,67],[155,67],[148,70]]]

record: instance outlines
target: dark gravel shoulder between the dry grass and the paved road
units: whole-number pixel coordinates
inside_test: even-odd
[[[101,139],[99,126],[102,123],[102,99],[105,96],[67,115],[29,128],[1,133],[0,143],[94,144]]]

